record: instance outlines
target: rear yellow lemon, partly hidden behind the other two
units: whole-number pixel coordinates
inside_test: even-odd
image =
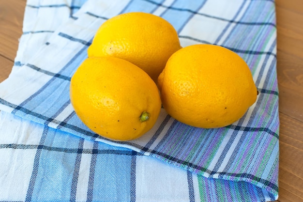
[[[168,58],[180,48],[178,34],[167,20],[131,12],[106,20],[96,32],[88,55],[127,60],[156,82]]]

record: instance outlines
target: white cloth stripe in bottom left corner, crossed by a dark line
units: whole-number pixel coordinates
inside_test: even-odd
[[[41,133],[36,126],[28,120],[22,121],[19,117],[0,111],[0,143],[38,145]],[[36,151],[10,148],[0,150],[0,186],[3,187],[0,200],[25,201]]]

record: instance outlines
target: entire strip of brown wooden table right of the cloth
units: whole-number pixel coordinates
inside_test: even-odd
[[[303,202],[303,6],[276,0],[279,202]]]

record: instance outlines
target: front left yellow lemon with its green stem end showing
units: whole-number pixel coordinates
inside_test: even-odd
[[[149,131],[161,109],[158,88],[139,67],[122,59],[86,59],[70,85],[80,120],[111,140],[133,140]]]

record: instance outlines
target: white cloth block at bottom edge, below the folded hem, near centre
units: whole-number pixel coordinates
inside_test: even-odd
[[[187,201],[187,172],[184,169],[148,156],[137,156],[136,202]]]

